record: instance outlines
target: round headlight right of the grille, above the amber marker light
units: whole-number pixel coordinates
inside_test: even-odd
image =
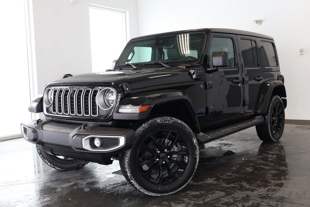
[[[112,88],[104,88],[97,95],[97,104],[103,110],[109,110],[116,102],[116,92]]]

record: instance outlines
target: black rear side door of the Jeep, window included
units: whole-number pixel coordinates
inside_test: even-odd
[[[239,53],[241,55],[241,69],[244,93],[244,112],[256,110],[263,79],[263,71],[259,65],[258,47],[255,38],[237,35]]]

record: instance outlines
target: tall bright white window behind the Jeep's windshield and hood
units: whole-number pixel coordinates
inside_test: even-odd
[[[111,69],[127,43],[127,12],[90,4],[92,71]]]

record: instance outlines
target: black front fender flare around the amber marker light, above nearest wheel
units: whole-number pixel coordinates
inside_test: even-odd
[[[150,92],[141,92],[133,94],[130,97],[124,97],[115,108],[113,113],[113,119],[127,119],[127,120],[138,120],[138,119],[146,119],[148,115],[151,113],[151,110],[154,106],[158,106],[165,103],[170,102],[182,102],[188,109],[190,114],[191,122],[193,122],[194,131],[199,131],[199,124],[196,117],[196,113],[192,102],[187,97],[184,92],[178,90],[160,90],[160,91],[150,91]],[[150,108],[148,111],[143,113],[119,113],[118,110],[120,106],[143,106],[149,105]]]

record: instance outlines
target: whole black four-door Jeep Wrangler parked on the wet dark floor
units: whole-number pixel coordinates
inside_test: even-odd
[[[182,189],[197,168],[198,143],[256,126],[262,141],[284,129],[286,91],[272,37],[194,29],[133,38],[112,70],[46,86],[21,124],[55,169],[119,160],[145,194]]]

